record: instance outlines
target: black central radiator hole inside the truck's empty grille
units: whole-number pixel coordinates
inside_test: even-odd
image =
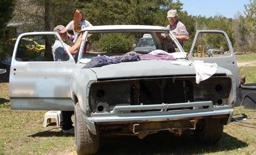
[[[131,87],[131,104],[161,104],[193,102],[193,85],[190,81],[141,81],[139,88]]]

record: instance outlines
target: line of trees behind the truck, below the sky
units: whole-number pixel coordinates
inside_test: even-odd
[[[1,3],[9,3],[8,9],[4,10],[8,12],[6,14],[12,15],[6,18],[1,16],[1,23],[6,24],[7,21],[21,23],[23,32],[53,31],[58,24],[66,26],[72,21],[76,9],[81,9],[85,19],[93,26],[140,24],[166,27],[169,24],[166,19],[167,12],[176,9],[179,20],[185,24],[190,33],[191,39],[185,42],[185,51],[189,51],[198,29],[225,31],[235,52],[254,52],[255,49],[256,0],[250,0],[250,3],[244,6],[246,17],[237,12],[234,18],[220,14],[209,18],[192,16],[183,10],[183,3],[179,0],[175,2],[173,0],[4,0]],[[1,12],[4,10],[2,9]]]

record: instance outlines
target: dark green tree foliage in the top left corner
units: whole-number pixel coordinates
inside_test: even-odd
[[[6,24],[12,19],[16,0],[1,0],[0,1],[0,29],[6,27]]]

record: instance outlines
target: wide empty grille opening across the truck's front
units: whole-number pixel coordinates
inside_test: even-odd
[[[88,96],[91,112],[110,112],[115,106],[173,104],[212,101],[222,106],[232,102],[232,84],[228,77],[211,77],[195,83],[195,77],[165,77],[144,79],[115,79],[92,83]],[[173,110],[193,109],[186,107]],[[155,112],[144,109],[130,112]]]

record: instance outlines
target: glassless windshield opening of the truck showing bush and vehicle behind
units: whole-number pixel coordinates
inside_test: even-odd
[[[98,54],[107,56],[121,55],[127,52],[149,54],[155,50],[167,52],[165,44],[156,35],[157,32],[132,33],[90,33],[87,38],[86,52],[82,58],[95,57]],[[166,35],[167,33],[165,33]],[[164,33],[162,34],[164,35]],[[175,43],[174,43],[175,44]],[[179,52],[178,48],[177,51]]]

